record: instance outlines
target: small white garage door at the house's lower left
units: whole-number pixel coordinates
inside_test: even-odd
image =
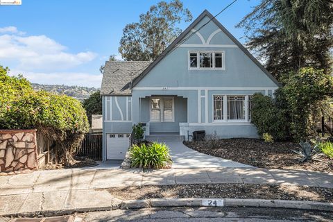
[[[123,160],[130,146],[130,134],[112,133],[106,135],[106,159]]]

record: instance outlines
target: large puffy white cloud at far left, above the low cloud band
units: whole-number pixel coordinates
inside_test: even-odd
[[[0,59],[15,60],[17,69],[25,71],[65,71],[96,58],[96,53],[67,52],[67,47],[46,35],[21,36],[14,26],[0,28]]]

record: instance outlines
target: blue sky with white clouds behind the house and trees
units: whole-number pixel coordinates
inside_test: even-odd
[[[31,83],[101,87],[99,67],[112,54],[121,59],[123,28],[157,2],[22,0],[21,6],[0,6],[0,65]],[[216,15],[232,0],[182,2],[196,19],[205,9]],[[235,25],[258,3],[238,0],[216,19],[244,43],[244,30]],[[177,26],[185,30],[189,24]]]

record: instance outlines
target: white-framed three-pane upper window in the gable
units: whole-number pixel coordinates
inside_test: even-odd
[[[189,51],[189,69],[224,69],[224,51]]]

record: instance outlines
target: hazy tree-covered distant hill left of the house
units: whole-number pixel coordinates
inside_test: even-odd
[[[82,86],[69,86],[69,85],[44,85],[32,83],[33,89],[35,90],[45,90],[47,92],[53,92],[56,94],[65,94],[67,96],[74,97],[80,101],[87,99],[90,94],[99,90],[95,87],[82,87]]]

